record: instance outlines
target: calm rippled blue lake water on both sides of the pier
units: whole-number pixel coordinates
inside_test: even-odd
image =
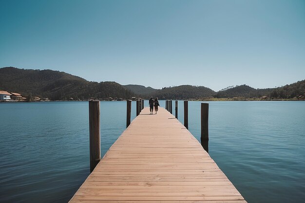
[[[189,102],[198,140],[200,103]],[[305,102],[209,103],[210,156],[248,203],[304,202]],[[126,102],[100,108],[103,156],[126,127]],[[88,111],[88,102],[0,103],[0,202],[71,199],[90,172]]]

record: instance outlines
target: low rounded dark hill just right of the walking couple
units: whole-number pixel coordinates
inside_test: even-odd
[[[153,96],[159,99],[191,99],[191,98],[210,98],[216,92],[203,86],[181,85],[176,87],[162,88],[157,90]]]

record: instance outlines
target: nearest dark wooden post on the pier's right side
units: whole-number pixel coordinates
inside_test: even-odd
[[[209,103],[201,103],[201,145],[209,153]]]

